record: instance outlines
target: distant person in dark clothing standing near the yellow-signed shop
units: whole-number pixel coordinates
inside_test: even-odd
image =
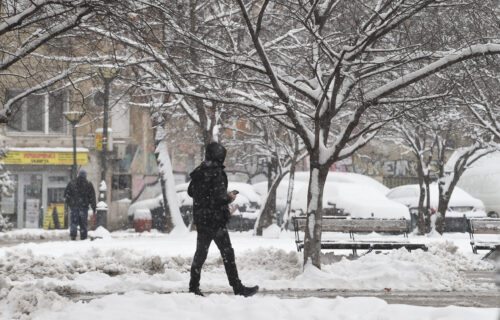
[[[64,190],[64,199],[71,211],[69,229],[71,240],[76,239],[78,226],[80,226],[80,239],[87,239],[89,206],[96,212],[94,186],[87,180],[87,172],[80,171],[78,177],[68,183],[66,190]]]

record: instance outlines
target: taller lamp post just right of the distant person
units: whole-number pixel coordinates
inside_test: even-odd
[[[96,227],[107,226],[108,205],[106,204],[106,153],[108,151],[108,108],[109,108],[109,85],[115,79],[117,70],[113,67],[100,67],[99,75],[104,82],[104,106],[102,124],[102,150],[101,150],[101,183],[99,184],[99,203],[96,212]]]

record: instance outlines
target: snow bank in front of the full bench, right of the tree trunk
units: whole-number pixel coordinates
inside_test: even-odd
[[[452,242],[445,241],[431,243],[428,252],[400,249],[368,254],[357,260],[343,258],[338,263],[323,265],[322,270],[307,265],[293,285],[351,290],[487,290],[494,289],[494,284],[475,284],[462,272],[492,268],[490,263],[469,260]]]

